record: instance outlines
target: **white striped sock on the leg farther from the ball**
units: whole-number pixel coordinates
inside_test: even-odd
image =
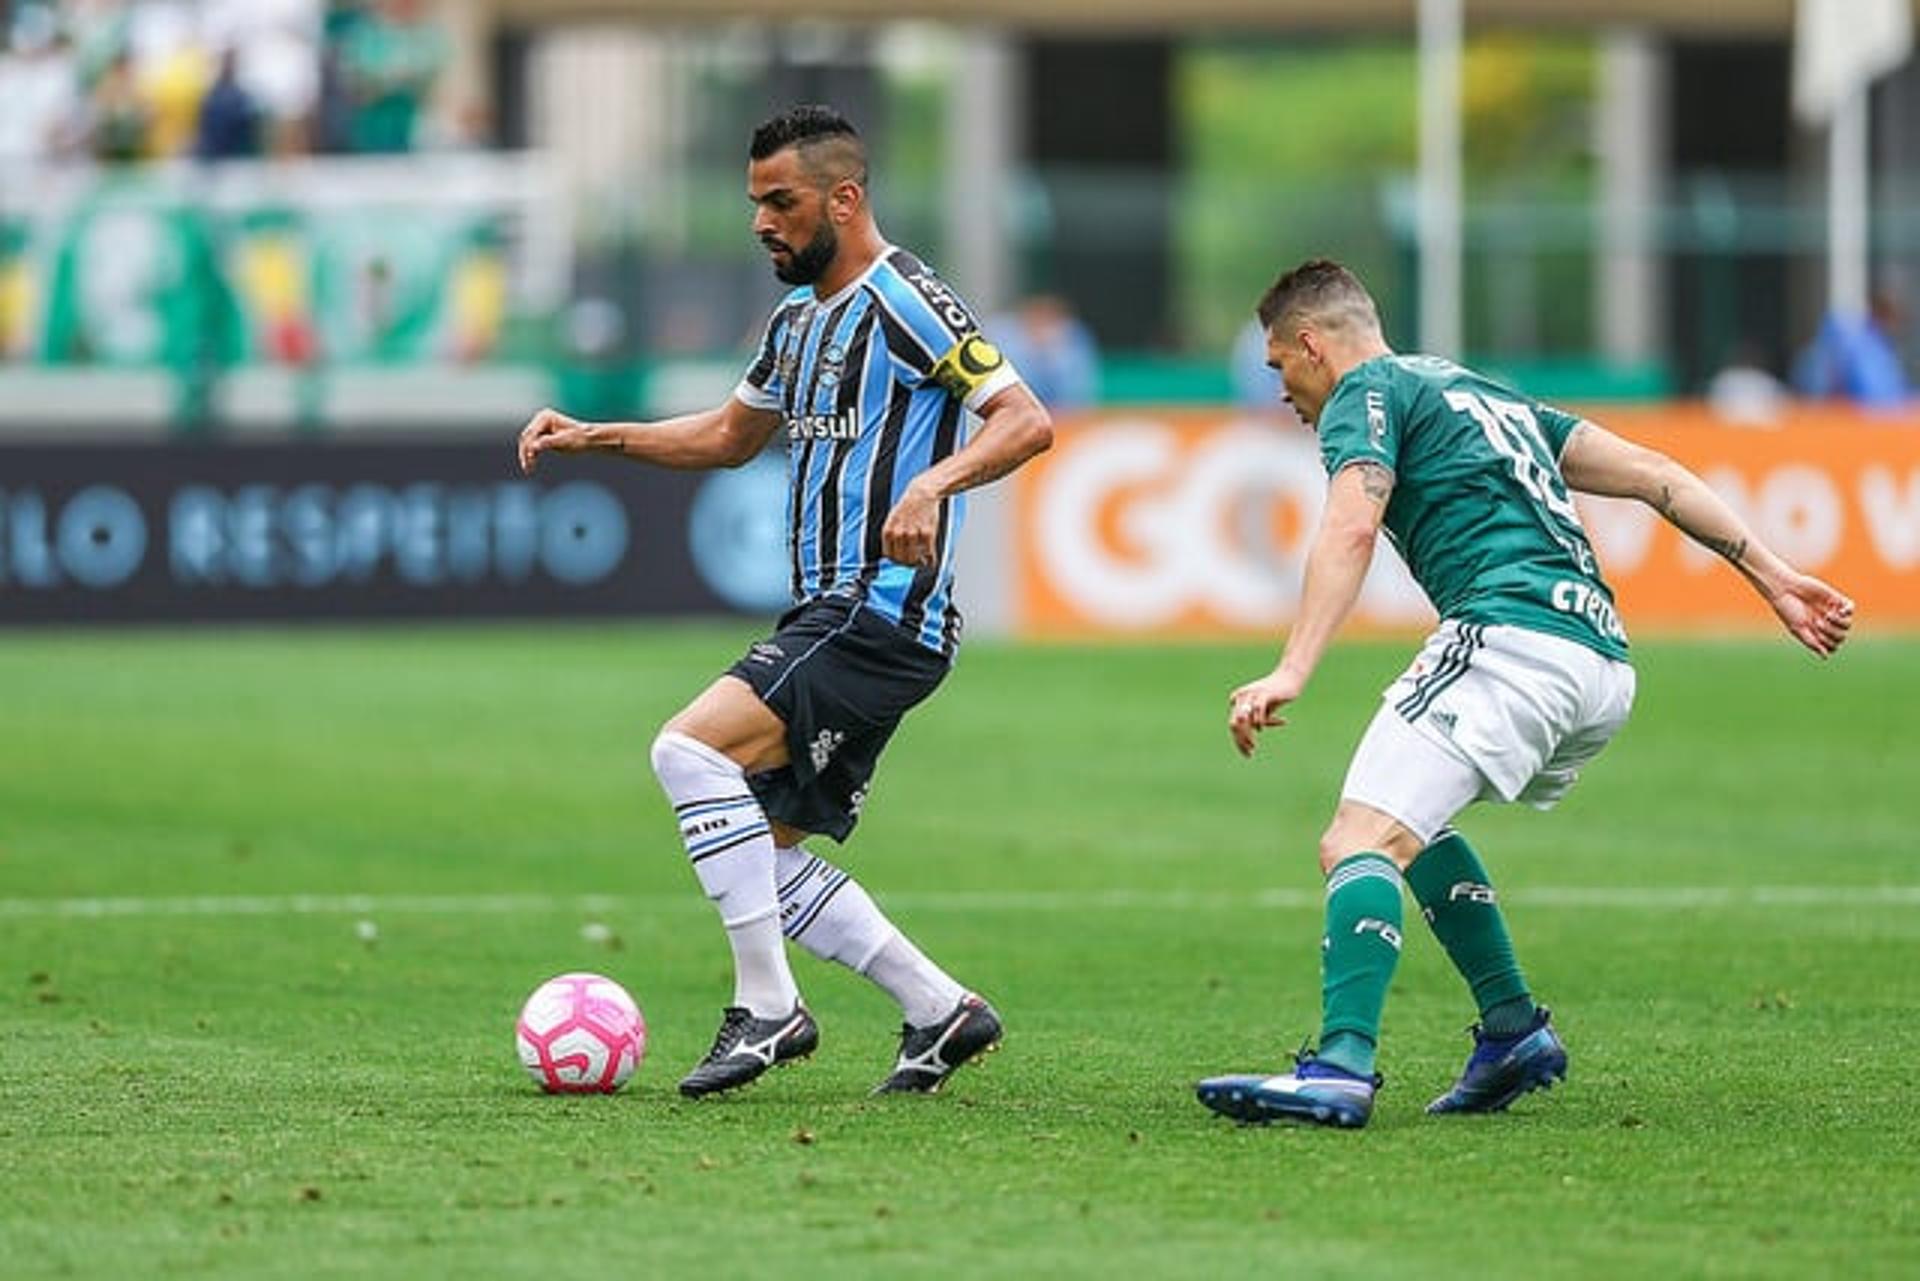
[[[776,849],[774,858],[789,939],[879,983],[914,1027],[952,1014],[966,989],[874,906],[860,882],[799,847]]]

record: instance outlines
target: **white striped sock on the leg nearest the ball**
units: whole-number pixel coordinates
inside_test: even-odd
[[[801,993],[780,933],[774,835],[745,774],[726,753],[672,730],[653,739],[653,772],[733,947],[733,1004],[755,1018],[787,1014]]]

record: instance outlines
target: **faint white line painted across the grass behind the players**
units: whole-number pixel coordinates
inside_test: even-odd
[[[1317,908],[1317,889],[1035,889],[902,891],[887,906],[924,912],[1160,912]],[[1920,906],[1920,885],[1536,885],[1501,895],[1517,906],[1592,910],[1697,910],[1768,906]],[[0,899],[0,920],[125,916],[532,916],[626,910],[680,910],[701,903],[684,895],[192,895],[115,899]]]

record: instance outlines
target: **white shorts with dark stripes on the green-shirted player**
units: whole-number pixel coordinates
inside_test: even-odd
[[[1448,620],[1380,695],[1340,797],[1421,841],[1475,801],[1551,809],[1632,707],[1626,663],[1546,632]]]

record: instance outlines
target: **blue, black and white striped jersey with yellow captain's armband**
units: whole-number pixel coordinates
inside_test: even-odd
[[[950,655],[966,497],[941,505],[933,568],[889,561],[879,534],[912,478],[966,444],[970,413],[1018,380],[960,296],[906,250],[887,248],[831,298],[787,294],[733,396],[785,415],[793,599],[852,595]]]

